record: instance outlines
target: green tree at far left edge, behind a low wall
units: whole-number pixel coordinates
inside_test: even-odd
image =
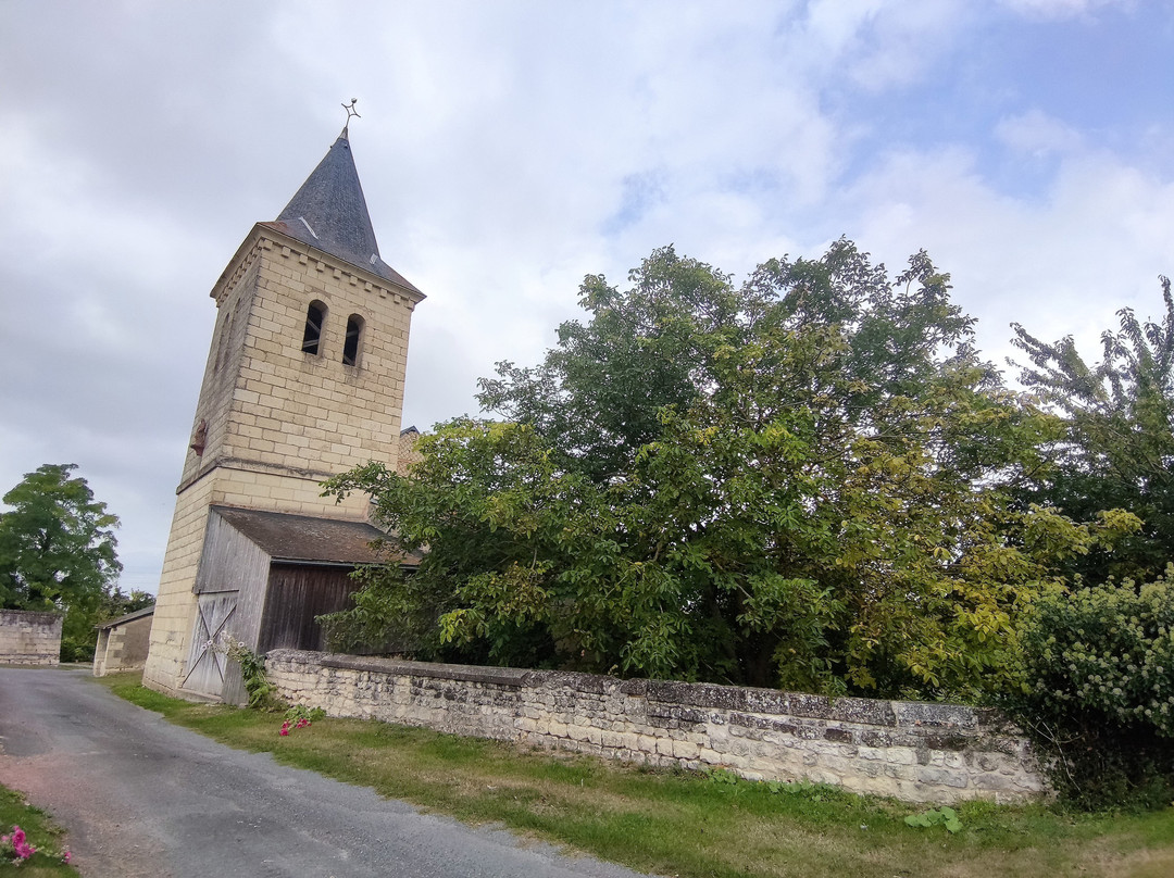
[[[0,601],[8,609],[63,610],[62,655],[93,650],[93,626],[116,593],[119,519],[94,499],[74,464],[46,464],[4,495]]]

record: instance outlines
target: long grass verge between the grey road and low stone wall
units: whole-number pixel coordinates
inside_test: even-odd
[[[189,704],[134,677],[104,682],[231,747],[663,876],[1174,874],[1174,808],[1073,816],[971,803],[958,806],[963,828],[951,835],[905,825],[922,808],[828,786],[648,770],[358,720],[322,720],[281,737],[279,714]]]

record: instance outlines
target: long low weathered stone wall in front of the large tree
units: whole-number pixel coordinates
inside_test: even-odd
[[[994,711],[957,704],[292,649],[269,653],[265,668],[282,696],[331,716],[908,802],[1047,795],[1028,742]]]

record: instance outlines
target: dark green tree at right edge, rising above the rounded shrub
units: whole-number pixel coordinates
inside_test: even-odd
[[[1113,552],[1070,559],[1092,582],[1152,579],[1174,560],[1174,297],[1168,278],[1161,285],[1163,317],[1141,323],[1132,309],[1118,311],[1120,330],[1101,335],[1095,365],[1071,336],[1048,344],[1014,324],[1013,343],[1031,362],[1020,381],[1065,423],[1054,467],[1027,498],[1079,521],[1125,508],[1142,522]]]

